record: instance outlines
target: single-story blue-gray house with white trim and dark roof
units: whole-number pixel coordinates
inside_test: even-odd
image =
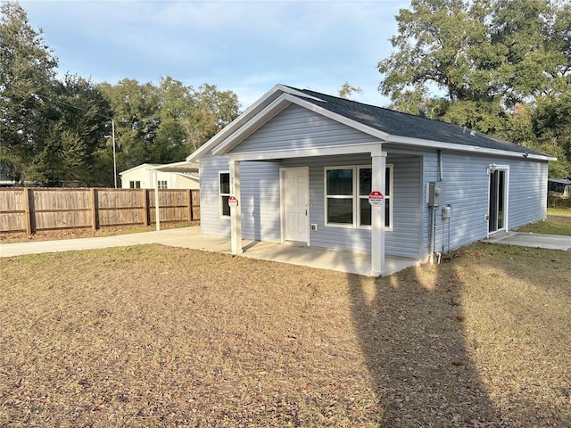
[[[186,161],[203,235],[424,262],[546,217],[541,152],[431,119],[277,85]]]

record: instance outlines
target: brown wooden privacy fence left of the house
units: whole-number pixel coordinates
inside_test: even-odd
[[[159,190],[161,222],[200,219],[200,191]],[[153,189],[0,189],[0,233],[149,226],[155,222]]]

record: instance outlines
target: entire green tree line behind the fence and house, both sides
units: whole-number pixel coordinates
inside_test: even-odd
[[[42,31],[1,4],[0,167],[21,184],[111,186],[118,171],[182,161],[239,113],[237,96],[166,77],[95,84],[66,74]],[[377,65],[389,107],[557,156],[571,172],[571,4],[411,0]],[[347,82],[346,97],[360,88]]]

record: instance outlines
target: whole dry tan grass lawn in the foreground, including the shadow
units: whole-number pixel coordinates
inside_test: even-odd
[[[0,259],[3,427],[568,427],[571,253],[387,278],[145,245]]]

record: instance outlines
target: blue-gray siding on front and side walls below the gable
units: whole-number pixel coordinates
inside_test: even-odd
[[[387,147],[386,162],[393,164],[393,230],[385,233],[387,255],[426,259],[430,248],[430,209],[426,183],[439,178],[437,152],[406,154]],[[402,149],[400,147],[399,149]],[[445,205],[451,205],[450,220],[443,220],[442,207],[435,215],[434,251],[446,252],[487,236],[490,164],[509,165],[509,218],[513,229],[546,217],[547,162],[443,152]],[[242,162],[243,237],[280,242],[280,167],[310,166],[310,245],[336,250],[370,252],[369,228],[325,225],[324,169],[335,166],[370,165],[368,154],[295,158],[280,162]],[[219,216],[219,171],[228,171],[228,158],[207,155],[200,161],[201,227],[203,235],[230,235],[229,218]]]

